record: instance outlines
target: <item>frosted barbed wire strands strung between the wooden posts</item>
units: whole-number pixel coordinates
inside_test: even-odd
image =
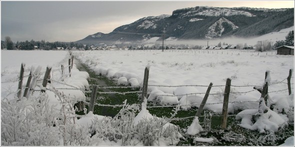
[[[69,67],[71,65],[68,65],[68,66],[64,66],[65,67]],[[54,69],[54,70],[51,70],[51,71],[57,71],[57,70],[60,70],[60,69]],[[46,71],[45,71],[46,72]],[[45,72],[40,72],[40,74],[42,73],[45,73]],[[69,73],[70,75],[70,73]],[[24,75],[23,77],[28,77],[29,75]],[[147,76],[148,77],[148,76]],[[290,78],[293,78],[292,76],[288,76],[282,80],[276,80],[274,82],[269,82],[268,83],[268,86],[270,85],[274,85],[274,84],[279,84],[279,83],[283,83],[283,84],[289,84],[289,80]],[[133,89],[138,89],[138,88],[142,88],[142,90],[135,90],[135,91],[125,91],[125,92],[120,92],[120,91],[97,91],[98,94],[122,94],[122,95],[125,95],[125,94],[129,94],[129,93],[136,93],[136,94],[139,94],[139,93],[146,93],[148,95],[154,95],[154,96],[189,96],[189,95],[196,95],[196,94],[206,94],[206,95],[225,95],[225,94],[241,94],[241,93],[249,93],[249,92],[252,92],[252,91],[257,91],[257,89],[255,89],[255,87],[263,87],[263,85],[231,85],[231,84],[224,84],[224,85],[210,85],[210,87],[225,87],[225,86],[232,86],[232,87],[254,87],[254,89],[251,89],[251,90],[247,90],[247,91],[237,91],[237,90],[234,90],[234,91],[229,91],[229,92],[224,92],[224,91],[214,91],[214,92],[194,92],[194,93],[185,93],[185,94],[175,94],[175,93],[153,93],[153,92],[147,92],[147,91],[143,91],[143,86],[144,86],[144,83],[143,85],[137,85],[137,86],[85,86],[83,88],[79,88],[79,87],[76,87],[74,85],[70,85],[70,84],[67,84],[63,81],[61,81],[60,79],[53,79],[53,78],[45,78],[46,80],[50,80],[51,82],[56,82],[64,87],[55,87],[54,89],[65,89],[65,90],[80,90],[80,91],[83,91],[84,93],[90,93],[91,92],[91,96],[92,96],[92,92],[93,92],[93,88],[94,87],[97,87],[99,89],[116,89],[116,88],[133,88]],[[288,79],[288,82],[285,82],[285,80]],[[39,80],[43,80],[43,79],[37,79],[38,81]],[[8,79],[6,81],[1,81],[1,83],[4,83],[4,82],[16,82],[16,81],[20,81],[19,79]],[[227,83],[227,82],[226,82]],[[290,83],[290,84],[294,84],[294,83]],[[59,85],[58,85],[59,86]],[[157,85],[157,84],[146,84],[146,86],[148,87],[153,87],[153,86],[156,86],[156,87],[188,87],[188,86],[195,86],[195,87],[208,87],[208,85],[201,85],[201,84],[187,84],[187,85]],[[29,88],[29,87],[22,87],[22,88]],[[45,88],[47,90],[50,90],[50,91],[54,91],[52,90],[51,88]],[[36,89],[35,91],[39,91],[41,89]],[[273,93],[273,92],[285,92],[289,90],[288,88],[285,88],[285,89],[278,89],[278,90],[273,90],[273,91],[267,91],[267,93]],[[95,89],[95,92],[96,92],[96,89]],[[94,94],[96,95],[96,93]],[[90,99],[90,102],[87,102],[87,101],[84,101],[86,102],[88,105],[91,104],[91,97],[85,97],[85,99],[89,100]],[[139,102],[139,101],[138,101]],[[246,102],[251,102],[251,103],[259,103],[259,100],[257,101],[228,101],[228,103],[246,103]],[[100,104],[100,103],[97,103],[95,102],[95,98],[94,98],[94,101],[92,100],[92,103],[94,103],[94,105],[97,105],[97,106],[109,106],[109,107],[122,107],[123,104]],[[211,102],[211,103],[203,103],[203,105],[215,105],[215,104],[223,104],[223,102]],[[136,104],[138,106],[141,106],[141,103],[138,103]],[[152,106],[146,106],[146,108],[156,108],[156,107],[176,107],[176,106],[191,106],[191,107],[197,107],[197,106],[200,106],[202,104],[198,103],[192,103],[192,104],[176,104],[176,105],[152,105]],[[236,114],[231,114],[231,115],[227,115],[227,116],[234,116]],[[243,115],[250,115],[250,114],[243,114]],[[252,115],[252,114],[251,114]],[[204,116],[204,115],[201,115],[201,116]],[[211,116],[222,116],[222,115],[211,115]],[[180,119],[187,119],[187,118],[192,118],[192,117],[195,117],[195,116],[188,116],[188,117],[182,117],[182,118],[173,118],[172,120],[180,120]]]

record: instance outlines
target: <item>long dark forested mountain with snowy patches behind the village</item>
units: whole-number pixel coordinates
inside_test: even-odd
[[[163,33],[180,39],[250,37],[293,26],[293,20],[293,8],[195,6],[173,10],[171,15],[146,16],[110,33],[97,32],[76,42],[140,43]]]

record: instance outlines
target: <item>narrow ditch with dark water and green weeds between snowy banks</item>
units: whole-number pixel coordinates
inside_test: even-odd
[[[132,103],[140,103],[139,99],[139,93],[126,93],[126,94],[102,94],[99,92],[109,92],[109,91],[117,91],[117,92],[127,92],[127,91],[138,91],[139,89],[134,89],[134,88],[101,88],[103,86],[117,86],[116,81],[113,79],[109,79],[107,77],[101,76],[91,69],[87,67],[87,65],[80,63],[77,59],[75,59],[75,64],[77,69],[80,71],[86,71],[89,73],[89,79],[88,83],[89,85],[91,84],[97,84],[99,88],[97,89],[97,95],[95,102],[99,104],[122,104],[125,99],[127,99],[127,103],[132,104]],[[91,93],[86,93],[86,97],[90,97]],[[88,100],[89,101],[89,100]],[[151,103],[148,103],[148,105],[152,105]],[[86,108],[87,105],[86,105]],[[94,114],[98,115],[104,115],[104,116],[115,116],[121,107],[109,107],[109,106],[98,106],[94,105]],[[169,117],[170,113],[172,112],[173,108],[172,107],[155,107],[155,108],[147,108],[151,114],[155,114],[158,117],[161,116],[166,116]],[[196,113],[196,108],[192,108],[190,110],[179,110],[176,114],[175,117],[187,117],[187,116],[193,116]],[[212,113],[212,111],[208,110],[203,110],[201,112],[201,115],[204,115],[204,113]],[[79,114],[79,113],[78,113]],[[83,114],[82,112],[80,114]],[[199,117],[199,123],[201,126],[204,126],[203,123],[203,116]],[[276,136],[282,137],[281,139],[278,139],[275,141],[275,144],[270,143],[269,141],[263,142],[259,140],[258,138],[263,138],[265,137],[266,134],[261,134],[255,130],[249,130],[242,128],[238,125],[239,122],[237,122],[234,118],[234,116],[228,116],[228,121],[227,121],[227,128],[224,131],[220,131],[220,121],[221,121],[221,116],[213,116],[211,119],[211,131],[208,132],[201,132],[199,134],[200,137],[208,138],[208,137],[213,137],[216,140],[213,143],[204,143],[204,142],[194,142],[193,137],[190,135],[185,134],[185,131],[183,131],[183,128],[187,128],[192,122],[193,118],[188,118],[188,119],[181,119],[181,120],[173,120],[171,123],[178,125],[179,131],[181,134],[184,135],[186,140],[181,140],[178,142],[177,145],[181,146],[186,146],[186,145],[217,145],[217,146],[232,146],[232,145],[249,145],[249,143],[253,143],[255,145],[278,145],[283,143],[284,139],[293,135],[294,133],[294,126],[293,125],[288,125],[285,130],[281,133],[275,132]],[[245,139],[243,141],[228,141],[222,139],[223,136],[226,134],[239,134],[241,136],[244,136]],[[268,134],[269,135],[269,134]],[[257,138],[257,139],[253,139]]]

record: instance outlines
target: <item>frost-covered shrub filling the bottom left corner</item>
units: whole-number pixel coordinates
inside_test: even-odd
[[[53,127],[55,113],[48,106],[47,95],[23,101],[1,101],[1,145],[58,145],[59,130]]]

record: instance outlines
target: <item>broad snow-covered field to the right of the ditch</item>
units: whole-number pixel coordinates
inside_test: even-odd
[[[278,127],[286,124],[288,119],[286,115],[277,115],[270,109],[265,113],[263,122],[253,124],[244,115],[258,112],[258,100],[261,94],[254,90],[253,86],[261,87],[264,84],[265,71],[269,71],[268,103],[275,104],[278,113],[282,109],[292,113],[289,107],[294,103],[293,94],[288,95],[286,84],[288,71],[294,66],[294,56],[275,53],[273,51],[258,54],[253,50],[229,49],[74,52],[75,56],[92,70],[109,78],[117,78],[118,83],[122,83],[120,79],[125,77],[127,80],[136,78],[142,85],[144,68],[148,64],[150,66],[148,85],[152,86],[148,86],[147,101],[157,101],[161,105],[180,104],[183,109],[199,105],[207,89],[206,86],[212,82],[213,86],[218,86],[211,88],[211,94],[206,102],[208,104],[204,108],[221,112],[225,81],[226,78],[230,78],[228,112],[245,110],[237,115],[236,119],[242,120],[241,126],[260,132],[277,131]],[[291,80],[293,83],[293,78]],[[291,86],[293,93],[294,85]],[[270,120],[266,115],[277,117]],[[269,127],[265,128],[265,125]]]

